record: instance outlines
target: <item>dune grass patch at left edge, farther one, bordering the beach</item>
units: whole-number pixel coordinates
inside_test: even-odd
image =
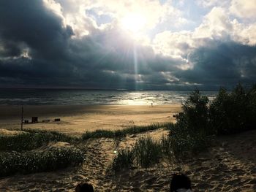
[[[0,151],[4,150],[33,150],[49,142],[75,142],[78,138],[69,137],[57,131],[26,129],[25,133],[13,136],[0,135]]]

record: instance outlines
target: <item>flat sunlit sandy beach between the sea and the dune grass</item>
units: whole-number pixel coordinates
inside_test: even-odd
[[[24,128],[40,128],[61,131],[66,134],[82,134],[96,129],[120,129],[135,124],[175,121],[173,115],[181,111],[181,105],[100,105],[100,106],[24,106],[24,120],[38,117],[39,123],[23,124]],[[20,106],[0,106],[0,128],[20,128]],[[61,118],[60,122],[53,122]],[[42,123],[42,120],[50,120]]]

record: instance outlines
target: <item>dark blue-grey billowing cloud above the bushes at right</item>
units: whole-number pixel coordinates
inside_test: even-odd
[[[256,80],[256,47],[236,42],[214,42],[199,47],[189,56],[193,69],[177,71],[181,81],[219,87]]]

